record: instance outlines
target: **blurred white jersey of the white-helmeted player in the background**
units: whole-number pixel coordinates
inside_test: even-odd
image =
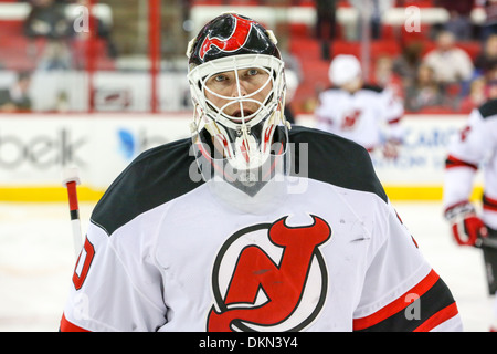
[[[317,127],[372,150],[385,140],[402,140],[402,102],[389,88],[364,85],[353,94],[337,87],[319,95]]]

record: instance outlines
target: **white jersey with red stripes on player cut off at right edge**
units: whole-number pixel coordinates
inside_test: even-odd
[[[479,168],[485,184],[482,220],[497,230],[497,100],[474,110],[450,146],[445,164],[445,209],[469,199]]]

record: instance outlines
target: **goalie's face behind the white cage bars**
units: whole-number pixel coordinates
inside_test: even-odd
[[[226,71],[205,82],[205,98],[233,122],[250,122],[273,88],[269,73],[260,67]]]

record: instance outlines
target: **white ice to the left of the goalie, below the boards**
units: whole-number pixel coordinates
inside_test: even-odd
[[[92,208],[80,204],[82,221]],[[0,204],[0,331],[59,330],[75,264],[71,232],[67,204]]]

